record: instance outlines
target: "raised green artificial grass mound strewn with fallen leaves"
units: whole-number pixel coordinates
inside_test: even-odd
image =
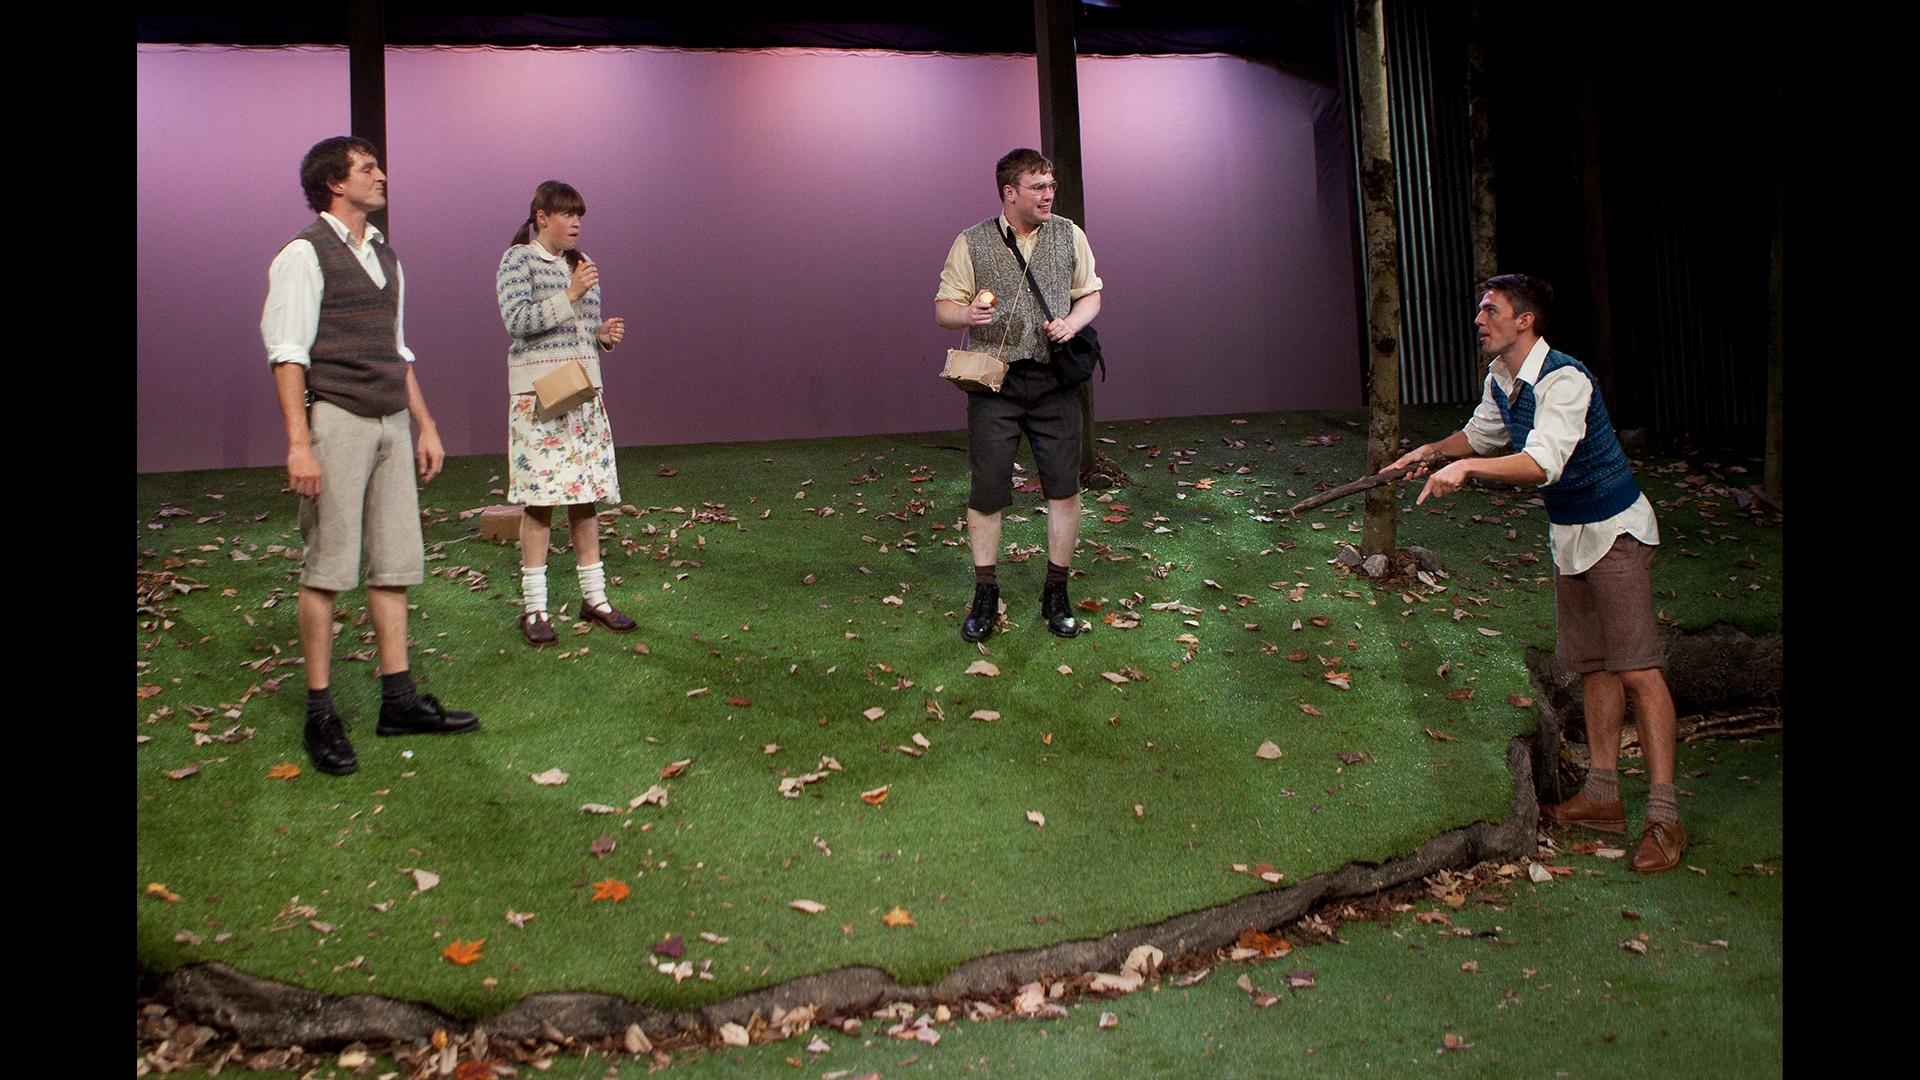
[[[1432,432],[1459,415],[1432,411]],[[1329,559],[1357,542],[1359,500],[1294,523],[1281,511],[1315,480],[1361,473],[1357,423],[1100,425],[1135,484],[1087,498],[1073,598],[1108,615],[1140,594],[1140,625],[1096,615],[1092,632],[1056,640],[1037,611],[1043,559],[1002,561],[1014,628],[989,657],[958,638],[972,596],[960,434],[622,450],[624,502],[639,513],[614,517],[603,546],[611,594],[639,630],[576,636],[561,619],[547,651],[515,626],[516,552],[459,517],[501,502],[505,461],[457,459],[422,492],[432,577],[409,596],[413,667],[484,730],[376,738],[365,598],[344,594],[334,700],[361,753],[348,778],[313,771],[300,744],[303,676],[284,663],[298,657],[300,542],[282,473],[140,477],[140,569],[205,586],[138,621],[136,728],[150,742],[136,757],[136,884],[180,896],[140,896],[140,963],[221,961],[457,1017],[551,990],[689,1009],[847,965],[931,982],[977,955],[1267,888],[1233,863],[1271,863],[1290,884],[1503,821],[1505,744],[1534,724],[1509,696],[1530,694],[1524,646],[1551,644],[1544,513],[1524,492],[1469,490],[1404,515],[1400,544],[1432,548],[1455,575],[1425,603],[1350,578]],[[1663,511],[1663,530],[1701,538],[1699,557],[1663,550],[1655,563],[1663,611],[1686,626],[1778,625],[1778,525],[1726,500],[1709,507],[1715,525],[1688,517],[1722,482],[1705,465],[1649,461],[1642,477],[1657,500],[1688,500]],[[1682,488],[1688,477],[1705,479]],[[1016,496],[1010,548],[1044,542],[1043,505]],[[1738,565],[1749,553],[1757,571]],[[553,559],[555,611],[578,603],[572,565]],[[1167,601],[1198,611],[1150,609]],[[1000,675],[966,675],[977,659]],[[1331,686],[1323,663],[1350,673],[1352,690]],[[1102,676],[1129,669],[1144,678]],[[1450,700],[1463,688],[1475,694]],[[931,746],[900,753],[916,732]],[[1256,759],[1263,740],[1284,757]],[[843,769],[799,799],[778,794],[822,755]],[[660,776],[682,759],[682,774]],[[276,763],[301,774],[267,778]],[[570,780],[530,780],[547,769]],[[655,784],[668,805],[628,811]],[[860,801],[879,786],[885,803]],[[595,855],[601,838],[614,846]],[[415,892],[411,869],[438,886]],[[628,899],[589,899],[605,878]],[[879,922],[895,905],[912,928]],[[516,928],[509,909],[536,917]],[[442,957],[476,938],[478,963]],[[659,972],[649,949],[664,938],[712,978]]]

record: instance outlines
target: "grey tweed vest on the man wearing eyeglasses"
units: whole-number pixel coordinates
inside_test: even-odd
[[[973,259],[973,288],[991,288],[998,298],[991,323],[968,327],[966,348],[989,352],[1008,363],[1016,359],[1044,363],[1050,357],[1046,331],[1041,329],[1046,315],[1041,313],[1027,275],[1020,271],[1020,261],[1006,246],[1000,219],[989,217],[962,236]],[[1033,242],[1033,258],[1027,263],[1033,267],[1033,281],[1041,284],[1041,294],[1046,296],[1046,306],[1056,319],[1064,319],[1073,307],[1073,223],[1058,213],[1048,217],[1041,225],[1041,238]],[[1004,350],[1002,338],[1006,338]]]

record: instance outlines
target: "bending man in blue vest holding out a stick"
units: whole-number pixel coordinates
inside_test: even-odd
[[[1553,544],[1553,596],[1561,667],[1580,675],[1592,769],[1574,798],[1542,807],[1555,824],[1626,832],[1620,805],[1620,724],[1634,700],[1640,746],[1653,773],[1647,822],[1632,867],[1667,871],[1686,851],[1674,805],[1674,701],[1661,675],[1665,651],[1653,623],[1653,503],[1634,484],[1594,373],[1548,348],[1542,332],[1553,286],[1509,273],[1480,282],[1475,319],[1488,365],[1480,407],[1467,427],[1428,442],[1390,469],[1457,457],[1427,479],[1419,500],[1444,498],[1469,477],[1538,484]],[[1519,454],[1500,454],[1507,446]],[[1425,465],[1419,469],[1425,473]]]

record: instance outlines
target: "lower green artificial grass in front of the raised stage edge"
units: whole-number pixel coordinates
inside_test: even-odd
[[[1390,922],[1348,922],[1338,942],[1223,965],[1179,988],[1162,976],[1058,1020],[956,1020],[939,1045],[816,1030],[785,1042],[678,1051],[676,1076],[1778,1076],[1784,1070],[1784,738],[1680,748],[1680,869],[1642,876],[1571,847],[1576,872],[1476,892],[1459,911],[1419,899]],[[1645,784],[1624,780],[1632,824]],[[1442,913],[1450,922],[1421,922]],[[1638,915],[1630,919],[1626,913]],[[1453,936],[1469,930],[1473,936]],[[1620,944],[1645,934],[1645,953]],[[1292,940],[1309,938],[1290,934]],[[1478,970],[1463,970],[1461,965]],[[1286,990],[1286,974],[1313,986]],[[1246,974],[1281,1001],[1256,1009]],[[1112,1028],[1100,1015],[1112,1013]],[[806,1053],[820,1036],[828,1051]],[[1467,1049],[1442,1051],[1446,1036]],[[311,1061],[309,1061],[311,1065]],[[624,1055],[555,1057],[555,1080],[643,1076]],[[378,1065],[372,1072],[392,1068]],[[200,1076],[204,1068],[182,1074]],[[315,1078],[348,1076],[317,1068]],[[530,1074],[520,1067],[520,1074]],[[259,1076],[296,1076],[265,1072]]]

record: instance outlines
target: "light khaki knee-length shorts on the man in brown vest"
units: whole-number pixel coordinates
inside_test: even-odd
[[[300,500],[300,538],[307,544],[300,584],[324,592],[353,588],[363,542],[367,584],[420,584],[420,492],[413,482],[407,413],[361,417],[315,402],[307,427],[321,463],[321,494]]]

